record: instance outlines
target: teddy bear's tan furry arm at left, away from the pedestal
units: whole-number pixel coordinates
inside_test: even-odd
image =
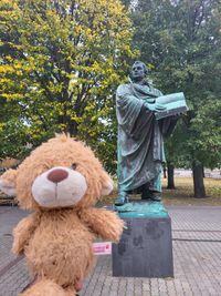
[[[29,243],[30,237],[32,236],[36,227],[36,221],[33,215],[30,215],[22,221],[13,229],[13,245],[12,252],[15,255],[23,253],[24,246]]]

